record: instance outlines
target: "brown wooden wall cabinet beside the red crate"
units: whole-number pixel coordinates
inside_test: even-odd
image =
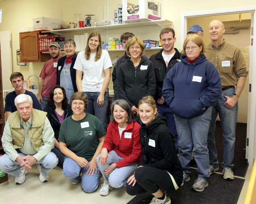
[[[46,62],[50,59],[48,53],[38,52],[37,38],[39,33],[39,31],[19,33],[21,62]]]

